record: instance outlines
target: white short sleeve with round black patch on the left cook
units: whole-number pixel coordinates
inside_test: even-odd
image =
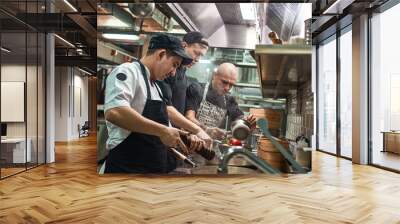
[[[107,77],[104,110],[131,106],[137,85],[137,73],[127,67],[117,67]]]

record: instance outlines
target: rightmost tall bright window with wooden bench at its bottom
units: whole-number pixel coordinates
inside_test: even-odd
[[[371,157],[373,164],[396,170],[400,170],[400,156],[387,144],[398,141],[395,151],[400,144],[400,133],[392,133],[400,130],[398,21],[400,4],[371,19]],[[386,141],[385,135],[393,139]]]

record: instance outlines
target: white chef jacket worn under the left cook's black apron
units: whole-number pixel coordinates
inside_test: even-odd
[[[149,81],[150,72],[146,66],[145,68]],[[161,101],[156,88],[161,93],[155,82],[150,84],[151,99]],[[146,100],[146,83],[138,62],[121,64],[108,75],[105,89],[104,112],[115,107],[129,106],[142,114]],[[106,125],[109,136],[106,146],[108,150],[113,149],[131,133],[131,131],[120,128],[108,121],[106,121]]]

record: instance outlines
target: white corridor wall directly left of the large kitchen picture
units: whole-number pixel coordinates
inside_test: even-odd
[[[88,78],[83,75],[76,68],[56,67],[55,141],[79,138],[78,124],[88,120]]]

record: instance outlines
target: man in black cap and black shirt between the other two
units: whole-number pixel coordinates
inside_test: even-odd
[[[189,32],[183,37],[182,44],[186,54],[193,58],[193,62],[189,65],[179,67],[176,70],[175,76],[170,76],[164,81],[159,82],[159,84],[163,95],[169,101],[169,105],[174,106],[177,111],[184,115],[186,89],[188,86],[186,69],[191,68],[207,53],[208,42],[200,32]]]

